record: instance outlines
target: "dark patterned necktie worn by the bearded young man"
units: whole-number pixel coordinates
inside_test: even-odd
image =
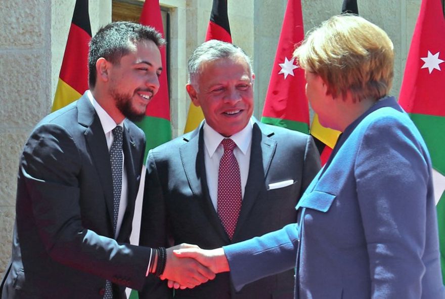
[[[123,129],[117,125],[113,129],[113,143],[110,148],[111,176],[113,179],[113,237],[116,234],[117,216],[119,214],[120,195],[122,192],[122,136]],[[111,281],[107,280],[105,284],[104,299],[113,298],[113,289]]]

